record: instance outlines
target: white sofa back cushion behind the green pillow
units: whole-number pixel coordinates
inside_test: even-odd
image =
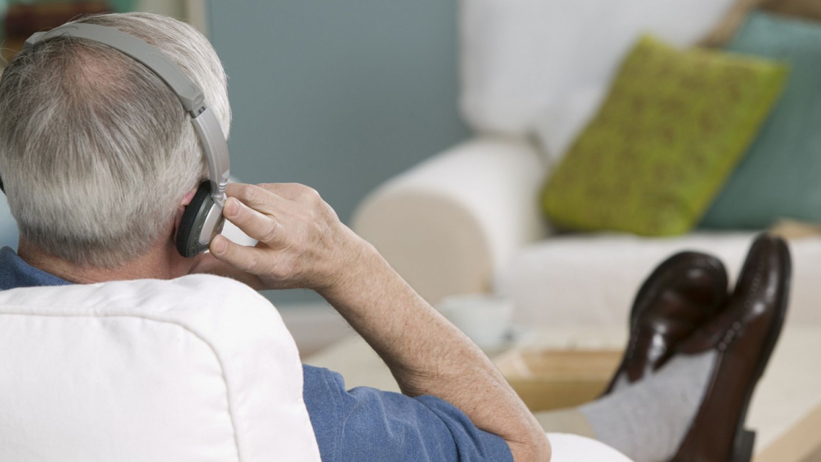
[[[542,121],[566,146],[642,33],[692,44],[733,0],[462,0],[461,108],[479,131],[523,134]]]

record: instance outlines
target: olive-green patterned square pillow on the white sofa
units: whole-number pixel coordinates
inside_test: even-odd
[[[780,95],[787,67],[645,36],[544,187],[553,224],[686,233]]]

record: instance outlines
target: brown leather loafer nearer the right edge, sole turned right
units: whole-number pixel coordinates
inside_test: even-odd
[[[727,309],[682,342],[684,354],[718,353],[706,395],[672,462],[748,462],[755,433],[744,429],[755,384],[787,313],[790,252],[781,238],[755,239]]]

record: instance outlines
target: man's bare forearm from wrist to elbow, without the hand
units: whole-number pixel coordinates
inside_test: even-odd
[[[503,437],[516,461],[549,459],[533,415],[493,363],[369,244],[319,291],[383,358],[406,395],[433,395]]]

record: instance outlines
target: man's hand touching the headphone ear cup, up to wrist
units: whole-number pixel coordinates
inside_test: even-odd
[[[232,183],[226,193],[222,215],[259,243],[245,247],[217,236],[211,254],[252,276],[241,280],[255,289],[332,289],[369,250],[310,187]]]

